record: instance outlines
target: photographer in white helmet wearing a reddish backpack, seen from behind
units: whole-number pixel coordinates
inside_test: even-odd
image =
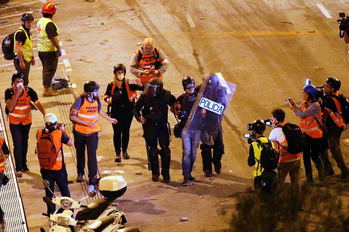
[[[54,192],[54,183],[56,183],[59,187],[59,191],[61,192],[62,197],[70,197],[70,192],[68,189],[68,174],[64,163],[63,156],[63,144],[68,146],[73,146],[74,141],[69,138],[65,131],[65,123],[58,123],[57,116],[53,113],[48,113],[44,117],[45,128],[39,129],[36,133],[36,139],[40,141],[40,138],[46,136],[52,137],[51,139],[53,144],[51,143],[40,143],[37,144],[37,153],[45,152],[47,149],[51,149],[52,145],[57,151],[57,159],[54,165],[51,166],[42,166],[40,164],[40,173],[43,180],[47,180],[50,182],[49,188],[52,192]],[[42,138],[43,139],[43,138]],[[47,147],[49,144],[49,147]],[[46,147],[45,147],[46,146]],[[40,159],[39,159],[40,161]],[[53,197],[53,194],[45,188],[46,197]],[[51,204],[53,211],[49,210],[50,207],[47,207],[47,214],[52,214],[55,211],[55,204]]]

